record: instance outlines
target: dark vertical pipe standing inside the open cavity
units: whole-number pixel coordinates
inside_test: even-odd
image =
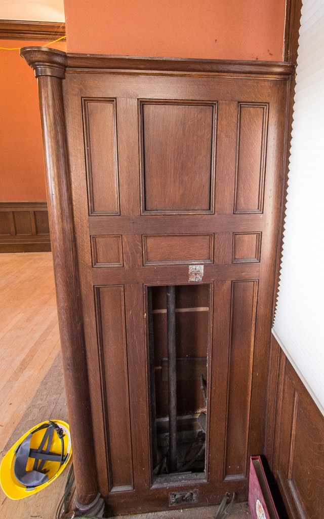
[[[177,372],[175,286],[166,287],[167,364],[169,404],[169,470],[177,471]]]

